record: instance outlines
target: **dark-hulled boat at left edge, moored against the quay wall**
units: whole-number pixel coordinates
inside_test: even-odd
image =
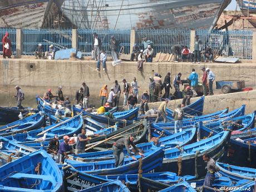
[[[9,124],[10,122],[19,120],[19,113],[26,115],[29,112],[38,112],[30,107],[25,107],[23,110],[18,107],[0,107],[0,124]]]

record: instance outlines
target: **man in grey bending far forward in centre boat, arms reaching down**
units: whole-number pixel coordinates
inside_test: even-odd
[[[132,159],[136,160],[135,156],[132,155],[130,149],[129,149],[129,145],[131,145],[134,150],[136,152],[139,153],[139,155],[141,155],[143,157],[143,154],[141,152],[139,152],[139,150],[137,149],[137,147],[134,144],[134,135],[130,135],[129,137],[123,137],[119,140],[117,140],[116,142],[114,142],[113,144],[113,153],[115,156],[115,166],[116,168],[118,166],[121,166],[124,164],[124,159],[125,159],[125,154],[124,154],[124,147],[127,150],[127,154],[131,155]],[[135,152],[135,153],[136,153]]]

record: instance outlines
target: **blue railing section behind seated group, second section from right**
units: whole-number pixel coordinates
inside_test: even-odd
[[[144,49],[142,39],[147,38],[153,42],[154,52],[171,53],[173,45],[190,47],[190,29],[138,29],[137,44]]]

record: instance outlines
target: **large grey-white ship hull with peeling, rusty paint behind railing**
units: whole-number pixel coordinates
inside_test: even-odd
[[[65,0],[63,14],[78,28],[213,28],[230,0]]]

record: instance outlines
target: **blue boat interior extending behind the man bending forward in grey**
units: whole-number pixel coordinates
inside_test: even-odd
[[[164,147],[165,149],[175,146],[184,146],[193,143],[196,139],[196,128],[181,131],[177,134],[162,137],[159,139],[159,143],[154,145],[153,142],[145,142],[142,144],[137,144],[137,148],[144,152],[149,152],[157,149],[157,147]],[[124,154],[127,155],[126,149],[124,149]],[[85,152],[83,154],[72,155],[73,160],[80,161],[102,161],[114,159],[112,149],[106,151],[97,152]]]

